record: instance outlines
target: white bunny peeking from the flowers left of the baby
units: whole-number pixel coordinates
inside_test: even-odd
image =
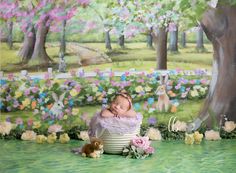
[[[53,106],[50,109],[50,114],[58,117],[62,113],[62,110],[64,108],[63,99],[65,97],[65,93],[60,95],[60,97],[58,99],[58,96],[56,95],[56,93],[53,92],[52,97],[53,97],[55,103],[53,104]]]

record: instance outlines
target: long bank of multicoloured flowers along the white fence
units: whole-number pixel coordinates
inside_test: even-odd
[[[15,80],[13,76],[0,81],[0,110],[43,110],[50,112],[54,99],[52,93],[65,93],[63,104],[65,110],[70,112],[72,107],[87,104],[106,104],[120,89],[128,91],[134,101],[156,98],[155,90],[159,85],[159,73],[144,73],[132,75],[125,72],[121,77],[114,77],[111,73],[105,77],[97,71],[94,78],[73,78],[66,80],[50,79],[45,75],[44,80],[21,79]],[[207,94],[209,79],[202,76],[183,77],[170,76],[167,93],[173,99],[201,99]],[[152,102],[149,100],[149,103]],[[66,112],[63,112],[65,114]],[[47,116],[47,115],[45,115]]]

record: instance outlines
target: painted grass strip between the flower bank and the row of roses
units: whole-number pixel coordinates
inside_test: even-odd
[[[152,114],[151,116],[154,116],[157,118],[158,123],[164,123],[168,124],[168,121],[171,116],[176,116],[177,119],[188,122],[191,121],[193,118],[195,118],[198,115],[198,112],[201,108],[203,101],[185,101],[180,104],[178,107],[178,111],[176,113],[157,113],[157,114]],[[76,119],[75,122],[73,122],[74,125],[78,125],[80,122],[80,115],[83,113],[88,113],[89,116],[93,116],[94,113],[99,111],[101,106],[96,105],[96,106],[84,106],[84,107],[79,107],[80,113],[78,115],[78,118]],[[140,111],[143,113],[143,110]],[[147,122],[147,119],[149,118],[147,114],[144,115],[144,120],[143,123]],[[2,112],[0,116],[0,120],[3,121],[6,119],[6,117],[10,117],[11,121],[15,121],[16,118],[21,117],[25,121],[28,118],[36,119],[34,117],[32,111],[17,111],[17,112]]]

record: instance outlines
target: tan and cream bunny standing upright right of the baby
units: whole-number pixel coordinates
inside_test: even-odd
[[[169,96],[166,94],[166,84],[168,82],[168,75],[163,76],[160,75],[160,86],[156,90],[156,94],[158,95],[157,107],[162,112],[163,107],[165,108],[165,112],[168,111],[170,106]]]

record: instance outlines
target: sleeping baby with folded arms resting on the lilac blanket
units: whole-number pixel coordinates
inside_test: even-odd
[[[132,98],[127,92],[118,93],[109,108],[102,110],[101,116],[106,117],[135,117],[136,112],[132,108]]]

